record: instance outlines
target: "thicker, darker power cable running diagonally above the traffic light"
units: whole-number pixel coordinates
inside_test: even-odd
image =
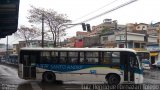
[[[133,3],[133,2],[136,2],[136,1],[138,1],[138,0],[131,0],[131,1],[129,1],[129,2],[123,3],[123,4],[121,4],[121,5],[113,8],[113,9],[111,9],[111,10],[108,10],[108,11],[106,11],[106,12],[103,12],[103,13],[97,15],[97,16],[94,16],[94,17],[92,17],[92,18],[89,18],[89,19],[87,19],[87,20],[84,20],[84,21],[82,21],[82,22],[80,22],[80,23],[85,23],[85,22],[91,21],[91,20],[93,20],[93,19],[96,19],[96,18],[98,18],[98,17],[100,17],[100,16],[102,16],[102,15],[105,15],[105,14],[110,13],[110,12],[112,12],[112,11],[115,11],[115,10],[117,10],[117,9],[120,9],[120,8],[122,8],[122,7],[126,6],[126,5],[129,5],[129,4]],[[76,24],[76,25],[78,25],[78,24]],[[74,27],[74,26],[76,26],[76,25],[67,27],[66,29],[72,28],[72,27]]]

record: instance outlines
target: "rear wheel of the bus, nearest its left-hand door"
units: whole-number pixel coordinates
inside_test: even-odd
[[[56,81],[56,76],[53,72],[44,72],[42,77],[43,81],[47,83],[53,83]]]

